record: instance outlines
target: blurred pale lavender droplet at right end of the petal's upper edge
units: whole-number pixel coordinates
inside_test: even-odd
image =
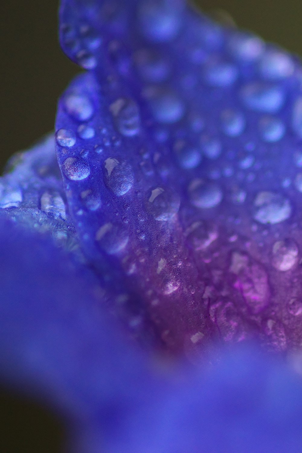
[[[290,55],[279,50],[268,50],[259,63],[260,73],[269,80],[290,77],[294,68]]]

